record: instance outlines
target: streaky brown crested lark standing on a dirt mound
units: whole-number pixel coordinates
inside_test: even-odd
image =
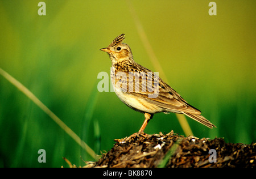
[[[137,134],[144,134],[148,122],[160,112],[185,114],[211,129],[216,127],[159,78],[158,73],[135,62],[130,46],[123,43],[124,39],[122,33],[100,50],[108,53],[112,62],[110,76],[116,95],[131,109],[144,114],[145,120]]]

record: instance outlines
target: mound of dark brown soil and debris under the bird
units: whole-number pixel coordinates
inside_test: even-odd
[[[115,139],[114,147],[85,167],[256,167],[256,143],[168,134]]]

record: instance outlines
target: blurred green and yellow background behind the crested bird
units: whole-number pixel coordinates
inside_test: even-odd
[[[134,12],[168,82],[217,128],[189,118],[196,137],[255,142],[256,1],[0,1],[0,67],[19,80],[100,154],[114,139],[139,130],[144,116],[114,92],[98,92],[98,73],[110,74],[101,52],[121,33],[136,62],[155,71]],[[161,77],[161,73],[159,73]],[[155,114],[148,134],[184,135],[175,114]],[[92,161],[23,93],[0,76],[0,167],[68,167]],[[38,163],[38,150],[46,163]]]

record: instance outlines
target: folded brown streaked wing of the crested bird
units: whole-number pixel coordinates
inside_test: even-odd
[[[131,69],[136,68],[138,70],[130,71],[126,79],[119,79],[119,82],[122,83],[126,83],[126,80],[129,82],[126,83],[126,87],[123,88],[127,93],[140,97],[148,103],[158,105],[166,112],[201,114],[199,109],[189,105],[179,93],[168,86],[168,84],[164,83],[163,80],[152,73],[152,71],[141,65],[136,65]],[[131,74],[133,74],[132,78]]]

